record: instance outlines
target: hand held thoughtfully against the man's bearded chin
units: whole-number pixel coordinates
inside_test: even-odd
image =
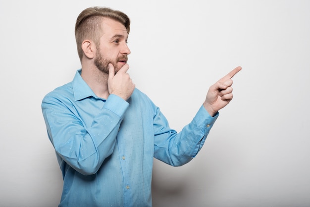
[[[129,69],[128,64],[124,64],[121,69],[115,74],[114,66],[109,63],[109,74],[107,79],[107,87],[109,94],[114,94],[124,99],[129,99],[135,90],[135,84],[132,83],[127,70]]]

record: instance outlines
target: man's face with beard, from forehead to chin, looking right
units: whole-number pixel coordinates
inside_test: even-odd
[[[94,60],[97,68],[108,74],[108,64],[112,63],[115,73],[127,62],[130,50],[127,46],[128,34],[124,25],[110,18],[103,19],[103,36],[97,46]]]

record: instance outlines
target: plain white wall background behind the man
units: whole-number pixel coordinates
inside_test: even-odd
[[[178,131],[243,67],[200,154],[155,160],[154,207],[310,206],[310,1],[0,0],[1,207],[59,203],[41,101],[80,68],[75,20],[94,5],[129,15],[129,73]]]

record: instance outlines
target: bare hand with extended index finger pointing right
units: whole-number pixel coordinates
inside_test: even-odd
[[[223,78],[218,80],[214,85],[210,86],[204,106],[211,116],[214,116],[219,109],[225,107],[232,100],[233,89],[231,86],[233,81],[231,78],[240,70],[240,66],[236,67]]]

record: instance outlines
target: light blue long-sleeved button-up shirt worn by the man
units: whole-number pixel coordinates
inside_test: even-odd
[[[63,176],[59,207],[151,207],[153,157],[173,166],[202,148],[218,117],[201,106],[177,133],[159,108],[135,89],[124,101],[97,97],[76,72],[42,102]]]

